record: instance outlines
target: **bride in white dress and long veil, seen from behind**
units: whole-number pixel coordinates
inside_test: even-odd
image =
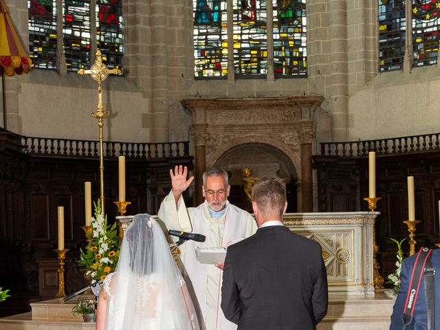
[[[148,214],[137,214],[124,234],[99,295],[96,329],[199,329],[164,232]]]

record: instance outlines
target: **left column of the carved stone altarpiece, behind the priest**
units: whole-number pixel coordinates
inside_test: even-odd
[[[192,125],[191,131],[194,141],[195,205],[198,206],[203,203],[201,186],[203,185],[203,172],[206,170],[206,125]]]

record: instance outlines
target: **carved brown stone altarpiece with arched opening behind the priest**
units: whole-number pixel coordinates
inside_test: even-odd
[[[322,96],[182,100],[181,104],[192,115],[197,205],[203,201],[201,175],[206,168],[214,166],[231,148],[263,143],[283,152],[292,161],[300,186],[298,210],[311,212],[314,110],[323,100]]]

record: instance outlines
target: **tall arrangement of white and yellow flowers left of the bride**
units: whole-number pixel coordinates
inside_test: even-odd
[[[85,276],[91,283],[103,280],[109,273],[115,271],[119,259],[119,237],[116,223],[107,225],[107,215],[102,214],[98,199],[94,203],[95,217],[91,218],[91,239],[86,250],[80,249],[78,265],[85,271]]]

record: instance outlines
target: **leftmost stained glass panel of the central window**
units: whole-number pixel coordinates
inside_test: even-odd
[[[228,29],[225,0],[195,0],[195,77],[228,75]]]

